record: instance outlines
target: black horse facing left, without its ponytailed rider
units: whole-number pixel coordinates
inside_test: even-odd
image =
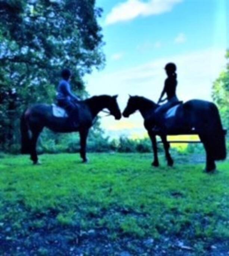
[[[162,118],[163,132],[156,134],[153,129],[155,125],[153,112],[158,106],[145,97],[130,96],[123,112],[124,117],[129,117],[129,115],[139,110],[144,118],[144,126],[148,131],[154,151],[152,165],[159,166],[156,135],[159,135],[163,142],[168,166],[173,166],[173,159],[169,153],[170,145],[167,142],[166,135],[195,133],[199,135],[206,151],[205,170],[207,172],[214,171],[216,169],[214,161],[226,158],[225,132],[216,105],[204,100],[189,100],[180,104],[176,106],[176,114],[173,117]]]

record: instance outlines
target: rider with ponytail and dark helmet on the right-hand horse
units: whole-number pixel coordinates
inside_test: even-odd
[[[165,65],[165,72],[168,77],[165,79],[164,88],[161,92],[161,96],[158,100],[158,104],[164,102],[165,100],[167,100],[167,102],[159,106],[154,112],[154,118],[157,124],[160,124],[160,121],[163,119],[164,113],[168,109],[170,109],[172,106],[176,105],[176,102],[179,102],[176,96],[176,87],[177,87],[176,65],[174,63],[167,63]],[[163,99],[165,94],[167,95],[167,97]],[[157,132],[158,127],[155,126],[153,130]]]

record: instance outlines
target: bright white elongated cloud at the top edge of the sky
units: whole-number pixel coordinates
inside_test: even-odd
[[[183,0],[127,0],[114,6],[106,16],[105,24],[128,21],[138,16],[158,15],[169,12],[173,6]]]

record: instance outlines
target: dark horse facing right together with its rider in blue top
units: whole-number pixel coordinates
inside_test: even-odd
[[[117,95],[100,95],[80,100],[71,93],[70,79],[70,70],[62,70],[62,80],[58,85],[56,95],[57,106],[35,104],[29,107],[21,117],[21,152],[23,154],[30,154],[34,164],[39,163],[36,144],[38,136],[44,127],[54,132],[79,132],[80,156],[83,162],[87,162],[87,135],[98,113],[106,108],[115,119],[119,120],[121,118],[121,112],[117,104]],[[64,108],[66,113],[62,116],[55,116],[55,108],[60,107]]]

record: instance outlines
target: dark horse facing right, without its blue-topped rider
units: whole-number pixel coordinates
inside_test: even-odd
[[[34,164],[38,163],[36,143],[38,136],[44,127],[54,132],[79,132],[80,133],[80,156],[83,162],[87,162],[86,141],[90,127],[96,115],[107,108],[115,119],[121,118],[121,112],[117,104],[117,95],[94,96],[82,100],[79,105],[79,126],[74,128],[69,125],[68,117],[53,116],[52,106],[47,104],[35,104],[28,108],[21,117],[21,153],[30,154]],[[31,132],[31,137],[29,136]]]

